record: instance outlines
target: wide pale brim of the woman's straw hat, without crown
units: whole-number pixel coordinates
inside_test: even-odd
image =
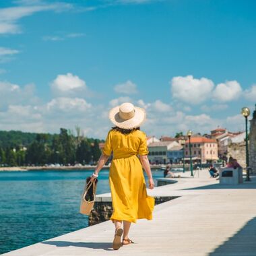
[[[119,128],[133,129],[139,127],[146,120],[146,111],[143,108],[137,106],[134,107],[135,115],[131,119],[121,119],[119,116],[119,106],[110,109],[108,118],[110,121]]]

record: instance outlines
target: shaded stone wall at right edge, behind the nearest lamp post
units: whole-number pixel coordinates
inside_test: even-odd
[[[253,117],[250,123],[249,166],[252,168],[251,172],[256,174],[256,118]]]

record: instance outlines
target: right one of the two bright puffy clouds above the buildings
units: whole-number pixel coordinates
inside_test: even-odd
[[[241,96],[242,88],[236,81],[227,81],[222,84],[218,84],[214,89],[214,99],[220,102],[228,102],[236,100]]]

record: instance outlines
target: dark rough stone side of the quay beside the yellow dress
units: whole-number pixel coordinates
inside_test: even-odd
[[[155,197],[155,205],[170,201],[177,197]],[[96,201],[89,216],[89,226],[109,220],[113,212],[112,201]]]

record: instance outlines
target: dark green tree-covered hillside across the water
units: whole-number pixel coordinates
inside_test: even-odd
[[[0,131],[0,166],[89,164],[100,157],[100,142],[64,128],[59,134]]]

